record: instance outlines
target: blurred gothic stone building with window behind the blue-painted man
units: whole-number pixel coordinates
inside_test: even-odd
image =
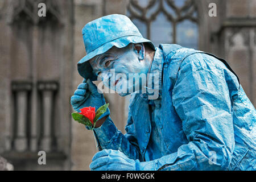
[[[38,16],[41,2],[46,17]],[[210,3],[217,16],[209,15]],[[115,13],[156,46],[176,43],[226,59],[255,106],[256,0],[0,0],[0,155],[14,170],[89,170],[93,133],[72,120],[70,105],[86,54],[81,30]],[[105,98],[124,132],[129,96]],[[46,165],[38,164],[42,150]]]

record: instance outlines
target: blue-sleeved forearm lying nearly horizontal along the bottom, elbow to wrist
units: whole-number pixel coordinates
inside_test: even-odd
[[[162,158],[140,163],[141,171],[197,171],[225,170],[232,154],[225,145],[207,142],[189,142],[177,152]]]

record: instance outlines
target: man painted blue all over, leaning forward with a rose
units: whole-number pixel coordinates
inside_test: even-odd
[[[134,92],[125,135],[109,110],[98,121],[101,151],[92,170],[255,169],[255,109],[224,60],[176,44],[156,48],[124,15],[93,20],[82,34],[87,55],[78,71],[85,80],[71,98],[73,108],[105,104],[92,83],[97,76],[121,96]],[[128,84],[131,73],[147,75],[146,84]]]

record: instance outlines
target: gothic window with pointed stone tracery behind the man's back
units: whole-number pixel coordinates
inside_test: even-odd
[[[130,0],[127,15],[142,35],[160,43],[198,48],[198,18],[193,0]]]

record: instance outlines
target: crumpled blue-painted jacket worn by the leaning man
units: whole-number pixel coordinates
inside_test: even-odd
[[[255,170],[256,112],[222,59],[161,44],[159,98],[133,93],[122,134],[108,117],[94,129],[101,149],[139,159],[143,170]]]

